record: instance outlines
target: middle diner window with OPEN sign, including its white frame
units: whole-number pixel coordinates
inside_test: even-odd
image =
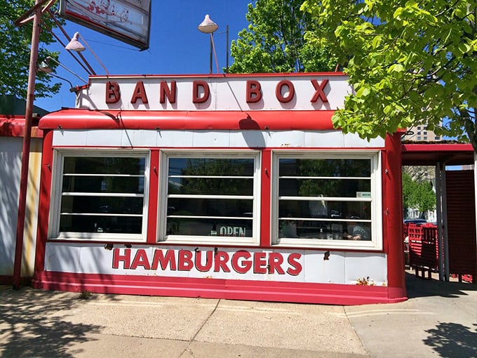
[[[255,151],[163,152],[159,240],[258,244],[259,158]]]

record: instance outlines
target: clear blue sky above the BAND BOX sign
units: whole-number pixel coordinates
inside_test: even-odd
[[[226,65],[227,35],[229,43],[237,39],[238,32],[248,27],[245,18],[247,5],[252,0],[152,0],[151,34],[149,49],[139,51],[126,43],[94,32],[86,27],[67,20],[65,30],[70,37],[79,32],[90,48],[98,55],[109,74],[208,74],[210,65],[210,37],[199,32],[197,26],[206,14],[219,25],[214,34],[217,60],[220,69]],[[55,34],[67,44],[60,32]],[[85,70],[72,58],[60,44],[49,45],[50,51],[60,52],[60,62],[83,79],[88,78]],[[83,55],[97,74],[105,74],[98,60],[86,46]],[[41,62],[41,59],[39,58]],[[229,57],[229,63],[233,59]],[[217,72],[213,60],[213,72]],[[58,67],[58,76],[64,77],[73,85],[83,84],[81,80]],[[58,80],[60,81],[60,80]],[[62,82],[62,81],[60,81]],[[61,107],[74,107],[74,93],[69,92],[69,84],[62,82],[62,90],[53,98],[37,98],[35,105],[48,111]]]

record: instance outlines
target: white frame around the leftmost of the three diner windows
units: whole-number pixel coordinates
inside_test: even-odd
[[[127,196],[143,196],[142,201],[142,232],[140,234],[121,234],[116,232],[60,232],[60,210],[62,197],[62,177],[65,157],[144,157],[145,182],[144,194],[128,194]],[[53,151],[53,176],[51,183],[50,225],[48,225],[48,238],[61,240],[100,240],[100,241],[146,241],[147,214],[149,208],[149,150],[104,150],[100,148],[75,148]],[[113,194],[114,195],[114,194]],[[127,215],[127,214],[124,214]],[[133,214],[130,214],[133,215]],[[138,214],[137,214],[138,215]]]

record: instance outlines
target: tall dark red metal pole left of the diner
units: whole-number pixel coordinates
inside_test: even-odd
[[[35,5],[40,0],[35,1]],[[25,208],[27,205],[28,164],[30,142],[32,141],[33,102],[36,77],[36,62],[38,60],[38,44],[40,41],[41,7],[36,8],[33,18],[32,48],[27,87],[27,104],[25,108],[25,134],[22,147],[22,171],[20,173],[20,193],[18,197],[17,237],[15,243],[15,262],[13,263],[13,289],[20,288],[23,256],[23,231],[25,227]]]

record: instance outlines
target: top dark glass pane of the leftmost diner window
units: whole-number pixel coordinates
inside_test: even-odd
[[[144,157],[65,157],[63,169],[63,173],[69,174],[144,175],[144,171]]]

